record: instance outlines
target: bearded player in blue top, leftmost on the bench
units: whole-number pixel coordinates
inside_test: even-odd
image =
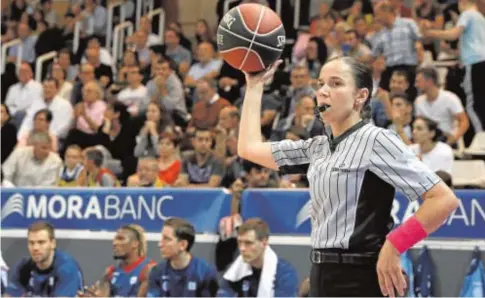
[[[35,222],[28,229],[26,257],[12,270],[5,296],[75,297],[83,288],[83,275],[76,260],[56,249],[54,227]]]

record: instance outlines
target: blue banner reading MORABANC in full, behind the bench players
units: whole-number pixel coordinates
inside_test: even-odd
[[[198,233],[217,233],[230,213],[225,189],[2,189],[2,228],[26,228],[48,220],[59,229],[116,231],[136,223],[160,232],[170,217],[190,221]]]

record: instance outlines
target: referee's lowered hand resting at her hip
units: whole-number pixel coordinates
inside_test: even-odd
[[[407,288],[407,285],[406,279],[402,274],[401,255],[388,241],[384,243],[379,253],[377,276],[384,296],[396,297],[395,290],[397,290],[399,296],[404,296],[404,290]]]

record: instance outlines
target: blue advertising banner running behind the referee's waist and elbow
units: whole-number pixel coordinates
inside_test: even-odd
[[[459,207],[431,237],[485,239],[485,191],[457,190]],[[398,193],[391,215],[399,225],[409,218],[422,200],[411,202]],[[310,195],[307,190],[247,190],[243,193],[243,218],[261,217],[275,234],[310,233]]]

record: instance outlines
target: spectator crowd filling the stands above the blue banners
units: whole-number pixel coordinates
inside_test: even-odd
[[[240,2],[275,8],[271,0],[233,5]],[[319,70],[351,56],[373,70],[373,123],[451,183],[453,149],[485,125],[484,2],[308,1],[308,26],[287,30],[294,42],[265,88],[264,137],[300,140],[328,129],[314,116]],[[282,3],[291,27],[292,4]],[[2,44],[22,44],[9,49],[2,74],[3,186],[226,187],[235,198],[247,187],[308,186],[305,173],[280,176],[238,157],[245,80],[218,56],[215,28],[200,19],[194,38],[178,22],[156,32],[158,19],[144,15],[118,61],[106,45],[106,5],[72,1],[62,15],[52,0],[2,1]],[[134,7],[124,1],[125,20],[136,23]],[[37,81],[36,58],[52,50]],[[459,62],[433,67],[439,60]]]

